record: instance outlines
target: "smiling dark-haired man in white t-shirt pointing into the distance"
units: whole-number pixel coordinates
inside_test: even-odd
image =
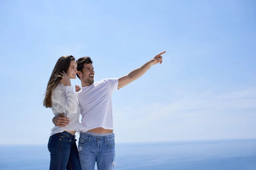
[[[86,127],[79,138],[79,159],[83,170],[113,170],[115,165],[115,139],[113,134],[112,93],[141,77],[152,65],[163,62],[157,54],[153,59],[131,73],[115,79],[94,82],[94,71],[90,57],[81,57],[77,62],[77,77],[81,80],[81,90],[77,92],[81,123]],[[64,127],[68,119],[55,116],[52,122]]]

